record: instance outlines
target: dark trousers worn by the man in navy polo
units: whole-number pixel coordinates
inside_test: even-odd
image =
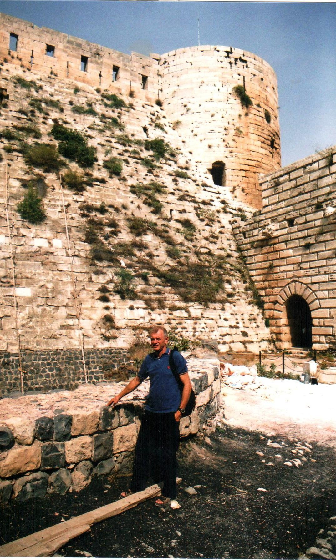
[[[155,483],[163,480],[162,496],[175,500],[179,443],[179,422],[176,422],[174,412],[144,413],[134,457],[132,492],[144,490],[150,478]]]

